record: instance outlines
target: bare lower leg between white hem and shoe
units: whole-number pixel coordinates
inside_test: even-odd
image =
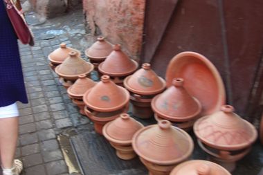
[[[0,156],[3,168],[14,163],[18,137],[18,118],[0,118]]]

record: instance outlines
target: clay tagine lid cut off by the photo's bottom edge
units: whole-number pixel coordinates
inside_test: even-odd
[[[207,160],[190,160],[177,165],[170,175],[231,175],[224,167]]]

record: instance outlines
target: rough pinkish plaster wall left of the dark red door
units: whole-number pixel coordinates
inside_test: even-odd
[[[138,61],[143,41],[145,0],[83,0],[87,29]]]

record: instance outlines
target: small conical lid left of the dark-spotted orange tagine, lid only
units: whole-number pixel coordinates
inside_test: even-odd
[[[81,74],[78,76],[78,80],[67,89],[67,92],[73,97],[82,97],[86,91],[96,84],[96,82],[89,79],[85,74]]]

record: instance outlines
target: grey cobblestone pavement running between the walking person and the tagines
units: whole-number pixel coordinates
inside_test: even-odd
[[[27,17],[35,34],[35,46],[19,44],[29,103],[19,103],[16,157],[24,163],[24,175],[66,175],[70,174],[66,164],[69,158],[65,158],[63,152],[67,151],[63,151],[58,138],[69,135],[68,131],[77,127],[85,127],[90,121],[80,115],[78,107],[69,99],[66,89],[48,66],[47,56],[62,42],[73,47],[72,41],[76,44],[81,41],[85,34],[82,10],[65,15],[64,22],[71,26],[60,23],[63,17],[33,24],[33,15]],[[81,49],[83,54],[84,47]]]

